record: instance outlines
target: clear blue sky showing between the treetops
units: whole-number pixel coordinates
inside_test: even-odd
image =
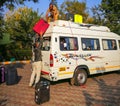
[[[51,0],[39,0],[38,3],[33,2],[26,2],[25,6],[29,8],[33,8],[33,10],[39,12],[41,14],[42,12],[45,14],[47,11],[47,8],[49,7],[49,3]],[[65,0],[57,0],[58,7],[64,2]],[[84,0],[78,0],[79,2],[82,2]],[[89,9],[90,14],[92,15],[90,8],[97,6],[101,3],[101,0],[86,0],[87,8]]]

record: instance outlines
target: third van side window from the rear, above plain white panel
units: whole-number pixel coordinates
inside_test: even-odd
[[[117,50],[116,40],[114,39],[103,39],[102,44],[104,50]]]

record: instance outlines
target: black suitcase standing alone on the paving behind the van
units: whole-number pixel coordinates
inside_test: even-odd
[[[35,86],[35,103],[42,104],[50,100],[50,82],[39,81]]]

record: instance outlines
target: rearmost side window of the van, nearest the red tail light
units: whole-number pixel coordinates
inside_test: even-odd
[[[78,50],[76,37],[60,37],[60,50]]]

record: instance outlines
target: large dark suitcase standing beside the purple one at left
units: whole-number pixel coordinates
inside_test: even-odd
[[[9,66],[5,71],[6,85],[14,85],[18,83],[17,69],[14,66]]]

